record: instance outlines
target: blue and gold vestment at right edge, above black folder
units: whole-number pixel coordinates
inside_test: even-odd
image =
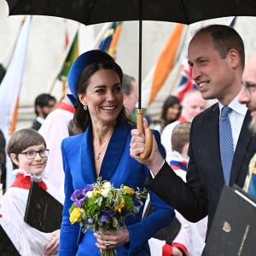
[[[253,155],[253,158],[250,161],[249,172],[243,189],[256,199],[256,154]]]

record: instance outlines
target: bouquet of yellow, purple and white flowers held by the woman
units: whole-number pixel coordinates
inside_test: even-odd
[[[125,228],[125,218],[135,214],[143,206],[143,198],[147,198],[147,190],[137,191],[121,185],[116,189],[112,183],[97,178],[96,183],[88,184],[84,189],[77,189],[71,195],[73,201],[69,209],[70,222],[78,222],[86,230],[99,231]],[[115,249],[101,249],[102,256],[115,255]]]

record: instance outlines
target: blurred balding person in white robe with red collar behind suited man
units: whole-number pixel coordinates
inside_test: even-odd
[[[166,161],[169,163],[172,154],[172,130],[181,122],[192,122],[198,113],[207,108],[207,101],[201,96],[200,90],[189,90],[183,96],[181,115],[177,121],[166,125],[161,133],[161,143],[166,148]]]

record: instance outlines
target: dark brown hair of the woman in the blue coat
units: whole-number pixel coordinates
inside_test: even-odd
[[[96,73],[99,70],[102,69],[109,69],[113,70],[115,73],[118,74],[120,82],[123,81],[123,72],[121,67],[116,62],[113,61],[102,61],[99,63],[92,63],[84,68],[83,72],[81,73],[79,77],[79,82],[77,84],[77,95],[84,94],[86,91],[90,77]],[[74,113],[74,123],[78,126],[79,130],[85,131],[86,127],[90,125],[91,119],[90,119],[90,113],[89,111],[84,111],[84,106],[81,102],[79,102],[79,98],[75,105],[75,113]],[[128,116],[125,113],[125,108],[123,106],[121,112],[119,113],[118,119],[122,119],[128,124],[135,125],[131,119],[128,118]]]

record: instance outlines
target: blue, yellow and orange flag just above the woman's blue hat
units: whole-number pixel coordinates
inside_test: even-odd
[[[98,47],[98,49],[101,49],[113,56],[114,59],[116,57],[116,47],[119,41],[121,29],[122,21],[113,22],[107,32],[105,32],[102,42]]]

